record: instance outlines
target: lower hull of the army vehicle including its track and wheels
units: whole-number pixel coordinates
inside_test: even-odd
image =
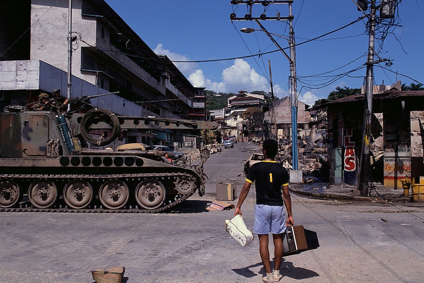
[[[136,156],[0,158],[0,167],[0,210],[156,213],[204,186],[190,168]]]

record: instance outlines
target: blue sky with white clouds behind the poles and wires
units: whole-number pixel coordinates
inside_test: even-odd
[[[196,87],[224,93],[270,92],[269,61],[273,92],[277,97],[290,96],[288,60],[281,52],[240,58],[277,50],[265,32],[243,33],[242,28],[260,30],[254,21],[231,22],[247,11],[230,0],[106,0],[121,18],[157,54],[167,55]],[[377,4],[380,0],[377,0]],[[233,10],[234,8],[234,10]],[[287,4],[271,4],[269,16],[288,15]],[[369,11],[369,10],[368,10]],[[254,5],[253,16],[264,12]],[[377,13],[378,15],[379,13]],[[298,99],[313,105],[327,98],[336,87],[360,88],[364,84],[368,52],[366,19],[338,30],[363,14],[352,0],[294,0],[294,31]],[[424,0],[402,0],[396,10],[397,27],[389,29],[385,40],[375,41],[379,58],[389,59],[374,65],[374,84],[424,84]],[[261,21],[278,44],[288,47],[288,24],[285,21]],[[328,32],[329,35],[316,38]],[[379,33],[377,32],[377,35]],[[302,43],[305,42],[305,43]],[[286,50],[289,53],[289,50]],[[236,59],[238,58],[238,59]],[[194,62],[211,61],[213,62]],[[358,70],[356,70],[358,69]],[[356,70],[356,71],[353,71]],[[353,72],[352,72],[353,71]],[[397,74],[396,74],[397,73]],[[345,74],[345,75],[343,75]]]

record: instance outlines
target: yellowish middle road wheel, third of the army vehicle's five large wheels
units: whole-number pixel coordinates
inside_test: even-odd
[[[73,180],[63,189],[63,200],[72,208],[86,208],[93,199],[93,188],[83,180]]]

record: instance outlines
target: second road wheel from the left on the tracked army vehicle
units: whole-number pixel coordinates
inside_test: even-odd
[[[48,208],[58,197],[58,188],[48,180],[37,180],[28,189],[30,203],[37,208]]]

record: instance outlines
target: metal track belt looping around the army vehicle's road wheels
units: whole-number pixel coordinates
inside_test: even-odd
[[[102,182],[108,179],[126,179],[127,181],[141,181],[142,179],[154,179],[154,180],[163,180],[164,178],[177,178],[177,177],[193,177],[192,174],[187,174],[183,172],[174,172],[174,173],[137,173],[137,174],[108,174],[108,175],[98,175],[98,174],[0,174],[1,178],[8,178],[12,180],[25,180],[26,182],[32,182],[32,180],[38,180],[38,179],[47,179],[47,180],[60,180],[61,182],[65,182],[66,180],[79,180],[79,179],[91,179],[92,182],[101,180]],[[21,182],[18,182],[21,183]],[[199,195],[203,195],[202,192],[204,192],[203,188],[204,184],[201,185],[202,188],[199,188]],[[66,205],[53,205],[49,208],[35,208],[32,206],[32,204],[20,204],[19,207],[10,207],[10,208],[0,208],[0,212],[69,212],[69,213],[158,213],[165,211],[171,207],[176,206],[177,204],[183,202],[190,196],[194,194],[196,191],[196,187],[193,186],[193,189],[189,192],[186,192],[184,194],[179,193],[174,197],[173,200],[167,200],[167,202],[163,203],[161,207],[156,209],[144,209],[139,208],[137,205],[132,207],[132,205],[125,205],[124,208],[121,209],[107,209],[103,208],[101,205],[97,207],[97,205],[89,206],[87,208],[83,209],[73,209],[68,208]],[[22,193],[22,191],[21,191]],[[130,191],[130,194],[133,193],[133,191]],[[21,196],[22,197],[22,196]],[[61,194],[59,194],[58,199],[55,203],[59,201],[59,198],[61,198]],[[92,203],[93,201],[91,201]]]

